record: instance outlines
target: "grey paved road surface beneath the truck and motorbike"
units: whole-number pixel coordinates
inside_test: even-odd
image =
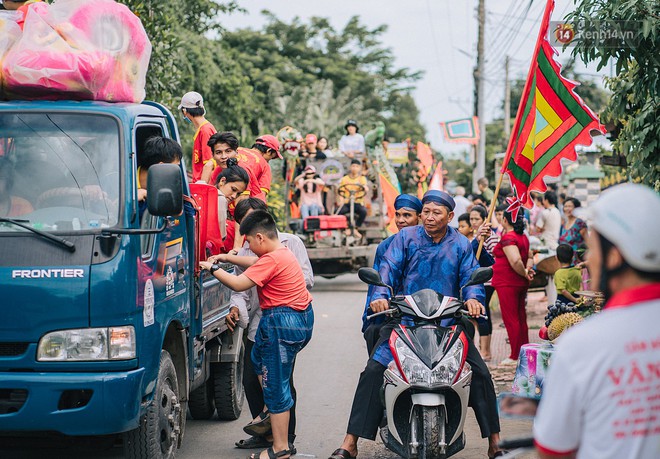
[[[353,392],[366,362],[367,353],[360,333],[360,316],[366,286],[355,275],[328,280],[317,278],[313,290],[315,328],[310,344],[296,363],[298,387],[298,448],[297,458],[327,458],[339,446],[346,431]],[[485,458],[487,442],[480,438],[478,426],[469,411],[466,424],[467,447],[454,456],[457,459]],[[238,421],[194,421],[189,419],[183,447],[177,457],[182,459],[240,459],[247,451],[233,447],[244,438],[242,426],[249,422],[247,403]],[[525,421],[502,422],[503,436],[523,436],[530,432]],[[32,443],[31,445],[37,445]],[[118,458],[118,447],[99,451],[80,448],[53,447],[39,442],[38,448],[2,449],[2,458]],[[361,458],[395,458],[382,443],[362,442]]]

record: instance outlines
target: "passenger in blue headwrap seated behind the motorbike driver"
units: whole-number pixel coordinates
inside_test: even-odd
[[[419,214],[421,211],[422,201],[416,196],[409,194],[401,194],[397,196],[394,200],[394,222],[396,223],[397,229],[401,231],[408,226],[417,226],[419,224]],[[380,262],[383,255],[385,255],[385,252],[389,249],[394,236],[396,236],[396,234],[391,235],[378,244],[378,248],[376,248],[376,256],[374,258],[374,269],[376,271],[380,268]],[[367,316],[373,314],[373,311],[369,307],[371,305],[373,293],[374,287],[370,285],[367,293],[367,302],[364,305],[364,313],[362,314],[362,333],[364,335],[364,340],[367,342],[367,352],[369,355],[371,355],[374,346],[378,342],[380,328],[385,320],[384,316],[374,317],[371,320],[367,320]]]

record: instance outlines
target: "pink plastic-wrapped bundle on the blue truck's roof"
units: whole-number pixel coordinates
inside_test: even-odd
[[[151,43],[113,0],[33,3],[22,34],[2,55],[4,97],[141,102]]]

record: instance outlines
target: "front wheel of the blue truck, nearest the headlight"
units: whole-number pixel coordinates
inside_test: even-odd
[[[137,429],[124,434],[124,456],[130,459],[172,458],[182,435],[183,416],[176,369],[169,352],[160,351],[156,392]]]

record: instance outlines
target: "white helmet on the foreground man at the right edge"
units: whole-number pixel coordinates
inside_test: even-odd
[[[590,225],[616,246],[635,269],[660,272],[660,196],[626,183],[604,191],[589,206]]]

